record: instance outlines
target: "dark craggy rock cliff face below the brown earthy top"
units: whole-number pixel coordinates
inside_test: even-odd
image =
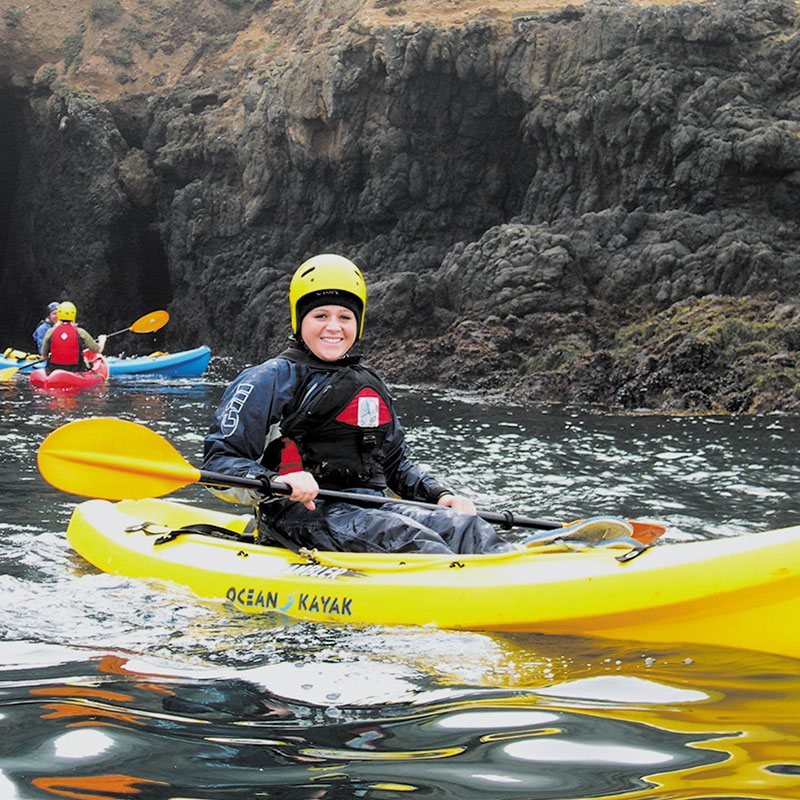
[[[343,26],[119,102],[6,88],[0,332],[55,287],[90,329],[168,305],[173,349],[259,360],[339,252],[392,379],[794,410],[799,77],[794,5],[737,0]]]

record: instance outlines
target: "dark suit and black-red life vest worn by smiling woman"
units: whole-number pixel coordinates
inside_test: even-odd
[[[299,459],[299,460],[298,460]],[[302,462],[302,466],[301,466]],[[407,456],[381,379],[357,356],[322,361],[298,345],[244,370],[205,438],[203,469],[280,480],[305,469],[322,488],[435,503],[447,490]],[[311,511],[281,497],[215,490],[259,504],[259,539],[350,552],[486,553],[515,549],[480,517],[401,503],[363,508],[317,498]]]

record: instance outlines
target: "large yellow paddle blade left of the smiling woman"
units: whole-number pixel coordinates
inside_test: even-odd
[[[37,464],[56,489],[106,500],[160,497],[200,480],[200,470],[164,437],[112,417],[54,430],[39,447]]]

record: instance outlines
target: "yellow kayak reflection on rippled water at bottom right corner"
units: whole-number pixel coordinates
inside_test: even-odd
[[[653,787],[603,795],[604,800],[800,798],[800,670],[796,660],[685,645],[654,649],[573,637],[493,638],[502,658],[513,664],[508,671],[504,671],[502,659],[495,664],[493,674],[503,677],[500,684],[533,689],[543,696],[548,711],[579,711],[603,720],[635,722],[690,737],[694,734],[697,741],[690,747],[723,755],[718,763],[654,769],[643,775]],[[516,748],[515,757],[550,763],[570,758],[587,763],[604,757],[617,763],[648,763],[648,754],[638,748],[621,753],[620,742],[609,742],[608,748],[585,748],[570,742],[529,739],[508,748]],[[629,757],[641,760],[631,762]],[[654,757],[650,763],[655,766],[659,760]]]

